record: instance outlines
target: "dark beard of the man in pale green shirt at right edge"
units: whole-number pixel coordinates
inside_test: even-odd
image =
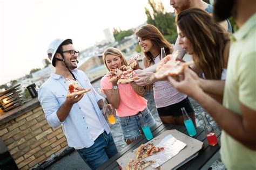
[[[235,4],[237,0],[215,0],[213,8],[213,18],[221,22],[231,16],[235,18]]]

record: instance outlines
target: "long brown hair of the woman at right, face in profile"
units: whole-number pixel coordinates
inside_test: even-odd
[[[193,46],[193,60],[207,79],[219,80],[223,69],[223,51],[228,34],[204,10],[190,8],[181,11],[177,25]]]

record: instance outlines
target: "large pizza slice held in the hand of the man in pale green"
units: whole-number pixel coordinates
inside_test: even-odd
[[[160,69],[157,70],[157,72],[154,74],[154,76],[157,79],[164,79],[166,76],[176,76],[178,74],[183,73],[183,70],[186,66],[192,65],[194,62],[181,62],[181,61],[168,61],[163,65]]]

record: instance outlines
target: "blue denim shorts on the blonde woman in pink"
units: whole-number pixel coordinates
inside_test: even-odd
[[[151,129],[156,125],[156,121],[147,108],[134,116],[119,117],[124,140],[136,139],[142,134],[142,121],[146,122]]]

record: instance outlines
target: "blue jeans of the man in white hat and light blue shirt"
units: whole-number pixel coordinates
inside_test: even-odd
[[[97,169],[117,154],[117,147],[114,144],[111,132],[107,134],[104,131],[94,142],[91,147],[76,150],[91,169]]]

